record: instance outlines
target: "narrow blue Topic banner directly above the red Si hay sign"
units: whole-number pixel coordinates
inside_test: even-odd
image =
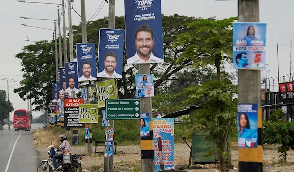
[[[78,80],[77,80],[77,63],[66,62],[65,63],[65,87],[66,92],[71,94],[72,91],[78,93]]]

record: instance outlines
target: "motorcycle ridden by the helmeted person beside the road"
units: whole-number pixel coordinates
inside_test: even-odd
[[[43,160],[39,163],[37,172],[53,172],[54,166],[53,166],[53,156],[62,153],[60,149],[51,149],[50,146],[48,147],[49,151],[47,152],[49,157],[46,160]],[[82,172],[82,166],[83,159],[82,154],[73,154],[70,155],[70,163],[69,164],[63,164],[63,159],[58,160],[57,163],[58,166],[61,167],[57,170],[57,172]]]

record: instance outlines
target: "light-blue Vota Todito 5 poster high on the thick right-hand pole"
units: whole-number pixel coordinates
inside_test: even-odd
[[[236,69],[265,69],[266,23],[233,24],[233,67]]]

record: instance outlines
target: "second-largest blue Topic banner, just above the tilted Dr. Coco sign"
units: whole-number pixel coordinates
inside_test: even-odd
[[[122,78],[123,47],[124,30],[100,28],[97,77]]]

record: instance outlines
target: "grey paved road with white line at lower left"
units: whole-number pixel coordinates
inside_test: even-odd
[[[0,131],[0,172],[37,172],[38,151],[30,131]]]

